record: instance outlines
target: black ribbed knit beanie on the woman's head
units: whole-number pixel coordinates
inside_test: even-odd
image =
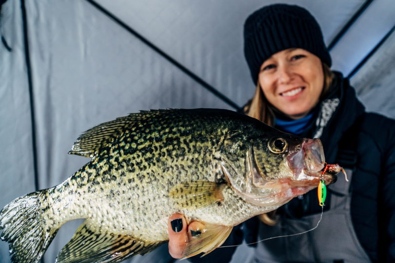
[[[273,4],[258,9],[244,23],[244,56],[254,85],[262,63],[279,51],[302,48],[329,67],[331,56],[316,19],[297,5]]]

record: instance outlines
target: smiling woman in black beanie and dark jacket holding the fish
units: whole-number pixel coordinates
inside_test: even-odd
[[[317,229],[258,243],[253,261],[395,262],[394,120],[365,113],[348,80],[330,70],[319,25],[301,7],[276,4],[250,15],[244,52],[257,85],[245,113],[279,130],[320,138],[326,161],[339,163],[351,177],[349,183],[339,177],[329,186]],[[246,241],[309,230],[320,212],[311,191],[280,207],[276,217],[247,221]],[[170,218],[173,257],[182,256],[186,232],[204,228],[199,224],[187,225],[179,214]],[[239,244],[240,236],[236,229],[227,244]],[[228,250],[217,249],[202,260],[229,260],[232,248]]]

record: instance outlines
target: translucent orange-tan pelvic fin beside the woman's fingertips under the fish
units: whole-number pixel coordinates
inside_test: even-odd
[[[207,255],[223,244],[233,229],[233,226],[212,225],[197,221],[190,223],[190,229],[193,229],[193,224],[195,223],[198,223],[196,225],[200,227],[188,231],[188,241],[183,251],[184,258],[189,258],[199,253],[204,253],[202,257]]]

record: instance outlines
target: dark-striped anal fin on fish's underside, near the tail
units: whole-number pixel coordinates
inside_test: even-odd
[[[134,255],[144,255],[164,242],[147,242],[130,236],[102,232],[86,220],[59,252],[56,263],[121,262]]]

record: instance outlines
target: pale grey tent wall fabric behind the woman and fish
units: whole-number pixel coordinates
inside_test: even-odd
[[[3,149],[0,156],[0,207],[35,190],[20,2],[8,0],[2,7],[2,34],[12,51],[0,43],[0,77],[4,80],[0,82],[0,146]],[[243,56],[244,19],[257,8],[279,1],[97,2],[241,106],[255,88]],[[321,24],[328,44],[365,1],[285,2],[299,4],[311,11]],[[370,48],[365,45],[360,52],[359,46],[353,42],[355,51],[343,53],[341,46],[347,46],[347,42],[341,38],[331,53],[336,69],[354,68],[380,41],[387,27],[379,20],[393,26],[394,19],[391,24],[389,14],[395,13],[395,6],[388,0],[382,2],[383,5],[375,6],[376,13],[371,14],[375,16],[375,23],[368,27],[366,23],[355,23],[359,29],[354,26],[350,29],[377,32],[380,28],[380,33],[368,42]],[[86,0],[29,0],[26,1],[26,11],[40,189],[61,183],[89,161],[68,155],[67,151],[82,131],[99,123],[138,110],[232,109]],[[393,56],[388,56],[395,53],[394,45],[389,43],[394,41],[389,38],[372,57],[372,61],[377,61],[374,67],[369,66],[369,60],[352,81],[358,90],[358,86],[362,87],[369,79],[366,89],[371,92],[361,93],[361,96],[366,95],[364,102],[376,107],[368,109],[394,117],[394,100],[388,97],[393,97],[395,69],[393,66],[391,69],[381,68],[386,70],[385,78],[377,73],[377,67],[383,67],[378,62],[386,61],[388,67],[394,61]],[[390,51],[384,53],[384,49]],[[354,57],[352,63],[346,63],[347,56]],[[364,77],[360,77],[361,74]],[[377,86],[372,79],[380,79],[383,85]],[[380,95],[376,88],[383,88],[387,96]],[[80,223],[71,222],[59,230],[44,256],[45,263],[55,261],[59,250]],[[240,247],[234,262],[245,258],[246,249],[249,248]],[[10,262],[7,250],[7,244],[0,242],[0,263]],[[144,258],[136,257],[130,261],[153,262],[154,258],[156,262],[159,258],[161,262],[170,260],[166,245]]]

